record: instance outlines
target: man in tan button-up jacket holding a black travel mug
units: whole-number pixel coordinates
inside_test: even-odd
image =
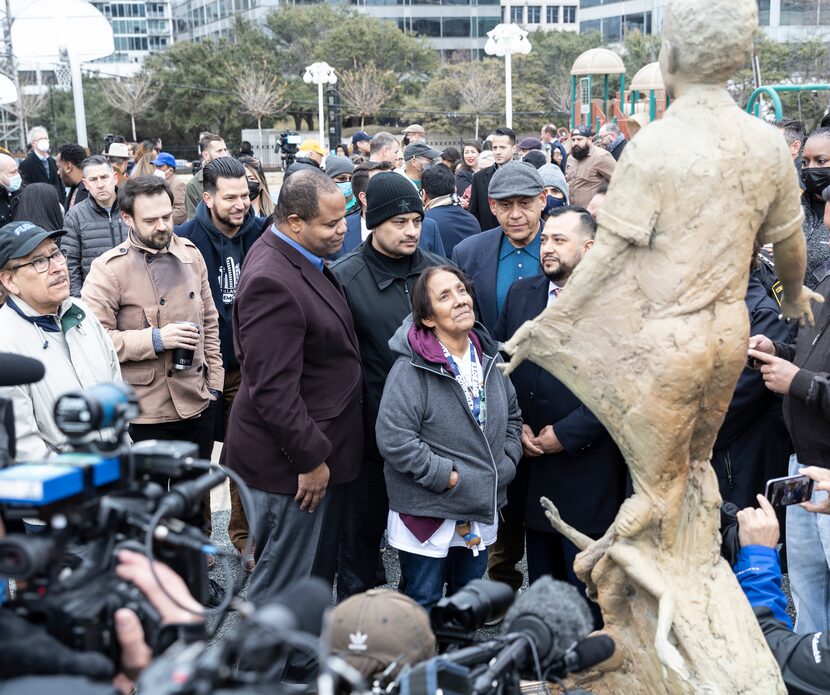
[[[128,239],[93,262],[82,296],[138,394],[141,415],[130,436],[190,441],[209,459],[224,370],[205,262],[173,234],[173,198],[162,179],[131,178],[118,201]],[[174,364],[177,348],[193,351],[189,368]]]

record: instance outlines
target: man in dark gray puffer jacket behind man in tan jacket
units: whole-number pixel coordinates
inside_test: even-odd
[[[87,157],[81,163],[81,169],[89,198],[76,203],[66,213],[64,227],[67,233],[61,240],[73,297],[81,296],[81,287],[92,261],[122,243],[128,231],[118,209],[115,174],[109,160],[96,154]]]

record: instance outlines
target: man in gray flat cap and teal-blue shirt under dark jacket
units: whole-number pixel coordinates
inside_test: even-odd
[[[492,333],[510,285],[542,272],[539,232],[547,194],[532,164],[508,162],[493,175],[488,195],[498,226],[462,241],[452,260],[473,281],[479,318]]]

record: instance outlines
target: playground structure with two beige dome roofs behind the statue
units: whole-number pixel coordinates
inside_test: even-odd
[[[616,123],[626,137],[631,137],[646,123],[660,118],[669,105],[660,64],[642,67],[628,90],[625,74],[622,58],[607,48],[582,53],[571,67],[571,128],[585,124],[597,133],[604,124]],[[602,98],[593,97],[595,78],[602,79]],[[619,80],[616,96],[610,91],[612,78]]]

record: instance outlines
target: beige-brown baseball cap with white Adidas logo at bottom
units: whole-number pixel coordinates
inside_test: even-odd
[[[388,589],[371,589],[335,606],[331,651],[365,678],[382,673],[396,661],[394,677],[407,664],[435,656],[435,635],[429,615],[411,598]]]

